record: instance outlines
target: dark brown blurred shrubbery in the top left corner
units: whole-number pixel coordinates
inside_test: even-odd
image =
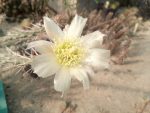
[[[47,5],[48,0],[0,0],[0,13],[5,13],[7,20],[20,21],[30,17],[39,20],[45,13],[55,14]]]

